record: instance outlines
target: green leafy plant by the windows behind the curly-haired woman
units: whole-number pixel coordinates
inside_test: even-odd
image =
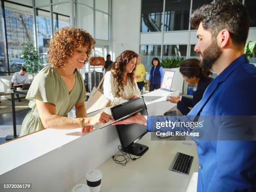
[[[25,42],[22,46],[23,53],[20,55],[20,59],[24,60],[22,67],[25,67],[27,72],[34,76],[39,72],[41,66],[38,51],[35,50],[33,42]]]

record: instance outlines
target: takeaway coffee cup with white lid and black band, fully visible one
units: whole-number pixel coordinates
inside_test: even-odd
[[[101,171],[99,169],[91,169],[86,173],[85,177],[91,192],[100,192]]]

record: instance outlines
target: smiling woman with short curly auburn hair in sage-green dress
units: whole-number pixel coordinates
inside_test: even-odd
[[[60,28],[49,41],[49,62],[34,78],[26,99],[31,110],[21,125],[20,136],[44,128],[82,128],[89,132],[93,125],[106,123],[113,118],[99,113],[87,118],[84,100],[84,80],[77,69],[88,61],[95,41],[79,28]],[[68,118],[67,113],[75,107],[77,118]]]

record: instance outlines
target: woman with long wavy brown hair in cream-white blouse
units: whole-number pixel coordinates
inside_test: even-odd
[[[111,105],[119,105],[141,96],[134,78],[138,54],[123,51],[104,76],[104,95],[111,100]]]

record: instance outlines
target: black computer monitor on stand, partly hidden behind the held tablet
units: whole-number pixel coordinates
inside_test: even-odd
[[[141,115],[148,115],[143,97],[138,97],[122,103],[111,108],[110,110],[113,118],[119,119],[136,110],[140,110],[141,108]],[[136,143],[136,141],[141,139],[146,134],[145,125],[139,125],[137,123],[130,125],[116,125],[116,130],[122,146],[122,151],[136,156],[141,156],[148,150],[148,146]]]

